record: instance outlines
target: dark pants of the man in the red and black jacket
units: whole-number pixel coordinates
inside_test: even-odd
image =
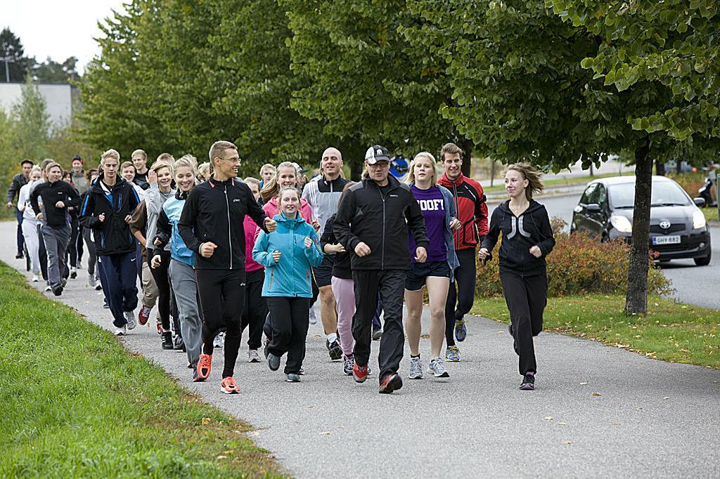
[[[455,321],[460,321],[469,313],[475,299],[475,250],[457,250],[456,255],[460,265],[455,270],[455,280],[450,281],[445,303],[445,340],[448,347],[455,345]]]

